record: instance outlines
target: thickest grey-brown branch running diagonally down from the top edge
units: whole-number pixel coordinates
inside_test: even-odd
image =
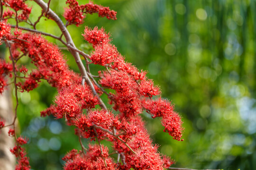
[[[43,1],[43,0],[35,0],[35,2],[44,10],[46,11],[47,8],[48,8],[48,5]],[[98,97],[98,100],[99,100],[99,105],[101,106],[102,109],[104,110],[107,110],[107,107],[106,105],[103,103],[103,101],[101,100],[100,96],[98,95],[98,93],[95,91],[94,87],[93,87],[93,84],[90,80],[90,78],[88,77],[87,73],[86,73],[86,70],[82,64],[82,60],[80,59],[80,56],[79,56],[79,53],[75,50],[73,50],[73,48],[76,49],[75,47],[75,44],[71,38],[71,35],[69,34],[66,26],[63,24],[62,20],[60,19],[60,17],[58,17],[55,12],[52,10],[52,9],[49,9],[48,11],[48,15],[51,19],[53,19],[55,21],[55,23],[59,26],[61,32],[63,33],[65,39],[66,39],[66,42],[67,42],[67,47],[69,47],[69,51],[70,53],[73,55],[75,61],[76,61],[76,64],[80,70],[80,73],[82,75],[82,84],[83,82],[85,81],[90,87],[91,87],[91,90],[93,92],[93,94],[95,96]],[[71,48],[73,47],[73,48]]]

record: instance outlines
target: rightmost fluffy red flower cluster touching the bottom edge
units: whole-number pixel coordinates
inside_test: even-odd
[[[120,138],[136,153],[134,154],[120,140],[112,140],[113,148],[124,158],[125,164],[120,169],[163,170],[163,161],[157,151],[158,147],[152,144],[140,117],[133,117],[129,122],[124,119],[120,128],[126,132]]]

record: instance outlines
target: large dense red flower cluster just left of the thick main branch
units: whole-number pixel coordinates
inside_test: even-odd
[[[19,48],[23,54],[27,54],[37,69],[33,70],[25,78],[25,81],[18,82],[22,91],[30,91],[38,86],[40,79],[46,79],[54,87],[62,88],[81,82],[81,77],[69,70],[66,61],[63,59],[59,49],[49,43],[38,34],[18,34],[18,39],[12,44],[11,50],[15,59],[18,58]],[[21,66],[19,71],[27,73],[27,68]]]

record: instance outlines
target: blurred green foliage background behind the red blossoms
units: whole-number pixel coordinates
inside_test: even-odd
[[[143,117],[159,151],[177,161],[174,167],[255,170],[256,0],[94,2],[117,11],[118,19],[88,15],[82,26],[68,26],[73,41],[90,53],[81,35],[84,26],[105,27],[126,60],[148,70],[147,76],[161,86],[162,96],[183,117],[184,141],[164,133],[159,119]],[[41,10],[28,3],[33,6],[31,20],[36,21]],[[51,8],[60,17],[64,6],[65,0],[51,0]],[[60,35],[51,20],[41,19],[37,28]],[[70,67],[78,71],[74,59],[63,52]],[[91,66],[95,73],[99,68]],[[64,120],[39,117],[55,94],[45,82],[30,93],[19,94],[21,135],[30,139],[26,147],[34,170],[61,170],[64,154],[80,149],[73,127],[64,125]]]

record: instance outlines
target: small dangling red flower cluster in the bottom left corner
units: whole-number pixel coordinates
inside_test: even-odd
[[[17,144],[10,149],[10,152],[15,155],[18,161],[15,170],[30,170],[29,161],[26,156],[27,153],[24,151],[24,148],[21,147],[23,144],[27,144],[27,139],[18,137]]]

